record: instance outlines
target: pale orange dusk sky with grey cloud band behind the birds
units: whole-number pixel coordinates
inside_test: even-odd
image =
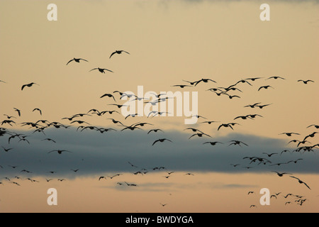
[[[318,1],[268,1],[270,21],[259,18],[263,1],[55,1],[57,21],[48,21],[50,3],[0,1],[0,127],[8,132],[0,136],[1,212],[319,211],[318,146],[296,150],[318,144],[319,135],[299,147],[291,141],[318,131],[310,126],[319,121]],[[126,52],[110,57],[116,50]],[[87,62],[69,62],[74,57]],[[92,70],[97,67],[113,72]],[[284,79],[269,79],[275,76]],[[253,77],[260,78],[247,79]],[[200,79],[214,82],[174,86]],[[21,90],[31,82],[36,84]],[[227,94],[239,97],[208,90],[231,85],[237,90]],[[160,102],[158,111],[165,106],[169,116],[148,116],[147,99],[135,103],[115,91],[152,101],[154,93],[180,96]],[[100,98],[103,94],[115,100]],[[143,116],[126,118],[124,108],[111,105],[133,103],[132,114]],[[269,106],[245,107],[252,104]],[[91,109],[118,113],[98,116]],[[62,119],[89,111],[72,120],[82,124]],[[9,120],[4,114],[15,123],[4,122]],[[204,118],[186,124],[189,114]],[[250,114],[257,116],[237,118]],[[39,132],[23,125],[38,120],[69,127]],[[122,131],[135,123],[148,124]],[[219,128],[223,123],[237,125]],[[100,133],[79,126],[114,130]],[[150,132],[156,128],[162,131]],[[186,128],[206,135],[199,138]],[[298,134],[282,134],[289,132]],[[9,140],[16,133],[20,138]],[[167,140],[153,145],[162,138]],[[271,153],[276,154],[268,157]],[[139,171],[145,173],[134,174]],[[274,171],[287,174],[279,177]],[[58,192],[57,206],[47,204],[52,187]],[[281,194],[262,206],[262,188]],[[254,194],[247,195],[250,191]],[[284,197],[289,193],[306,201],[298,205],[297,197]]]

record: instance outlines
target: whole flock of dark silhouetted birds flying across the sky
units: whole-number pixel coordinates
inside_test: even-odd
[[[110,57],[113,57],[113,55],[121,55],[122,53],[126,53],[128,55],[130,55],[129,52],[126,52],[125,50],[116,50],[115,52],[112,52]],[[84,58],[73,58],[71,60],[69,60],[67,62],[66,65],[72,64],[73,62],[76,63],[80,63],[80,62],[89,62],[88,60],[84,59]],[[96,67],[93,68],[91,70],[89,70],[89,72],[94,71],[94,70],[98,70],[101,73],[106,73],[106,72],[113,72],[112,70],[108,70],[106,68],[100,68],[100,67]],[[247,84],[248,86],[253,86],[252,83],[257,81],[257,80],[262,80],[264,79],[263,77],[250,77],[247,79],[240,79],[239,81],[235,82],[234,84],[230,84],[227,87],[211,87],[210,89],[207,89],[207,92],[213,92],[213,94],[216,94],[217,96],[228,96],[229,99],[240,99],[240,94],[232,94],[232,92],[240,92],[242,93],[242,88],[240,87],[241,84]],[[285,80],[285,78],[283,77],[278,77],[278,76],[273,76],[273,77],[267,77],[266,79],[264,79],[264,81],[268,82],[270,80]],[[183,80],[186,84],[174,84],[172,85],[172,87],[179,87],[180,89],[184,89],[186,87],[197,87],[198,84],[218,84],[216,81],[214,81],[213,79],[208,79],[208,78],[201,78],[195,81],[188,81],[188,80]],[[309,83],[313,83],[313,80],[307,79],[307,80],[298,80],[298,83],[302,83],[302,84],[309,84]],[[6,82],[0,80],[1,84],[6,84]],[[35,82],[30,82],[29,84],[23,84],[21,86],[21,91],[24,91],[25,89],[31,89],[31,87],[33,87],[33,85],[38,85],[39,84],[35,83]],[[1,85],[2,86],[2,85]],[[269,85],[269,84],[265,84],[262,85],[261,87],[258,87],[256,90],[257,92],[261,92],[262,90],[266,90],[266,89],[274,89],[273,87],[274,85]],[[117,97],[117,95],[119,95],[119,97]],[[3,149],[3,151],[5,153],[10,153],[12,150],[14,150],[13,147],[11,147],[12,145],[12,141],[13,140],[17,140],[17,143],[26,143],[26,144],[30,144],[30,141],[28,140],[29,137],[31,137],[33,135],[33,133],[43,133],[43,138],[42,141],[47,141],[50,143],[57,143],[57,141],[55,140],[55,138],[47,138],[45,131],[47,131],[48,128],[70,128],[70,127],[75,127],[77,128],[77,131],[82,132],[82,131],[87,131],[87,130],[91,130],[91,131],[97,131],[99,133],[106,133],[109,131],[134,131],[136,129],[138,130],[143,130],[145,128],[145,126],[150,126],[151,128],[147,129],[147,134],[150,133],[154,133],[157,135],[157,133],[161,133],[160,135],[162,135],[162,133],[164,133],[164,131],[162,131],[161,128],[156,128],[154,127],[153,123],[150,122],[136,122],[133,124],[128,124],[125,123],[125,121],[128,121],[128,118],[135,118],[138,117],[138,114],[130,114],[128,116],[124,116],[125,118],[123,120],[119,120],[116,116],[121,116],[120,112],[118,111],[119,109],[121,109],[124,105],[123,104],[119,104],[118,101],[121,101],[121,99],[123,99],[124,97],[128,97],[128,98],[132,98],[133,97],[133,101],[140,101],[142,99],[145,99],[144,97],[138,97],[135,96],[133,94],[125,94],[125,92],[120,92],[120,91],[113,91],[110,93],[106,93],[106,94],[102,94],[99,98],[100,99],[111,99],[112,101],[115,101],[115,104],[108,104],[108,106],[114,106],[116,109],[108,109],[108,110],[103,110],[103,111],[99,111],[98,109],[90,109],[88,111],[85,111],[84,113],[79,113],[79,114],[74,114],[72,116],[66,116],[65,118],[62,118],[62,121],[68,122],[68,123],[60,123],[59,121],[52,121],[49,122],[47,120],[43,120],[40,119],[36,122],[29,122],[29,121],[23,121],[23,122],[18,122],[19,118],[21,118],[21,116],[23,116],[23,110],[21,109],[17,109],[14,108],[12,111],[16,112],[16,114],[3,114],[4,119],[0,122],[0,137],[4,137],[7,136],[7,141],[8,143],[6,144],[2,144],[1,148]],[[165,101],[167,101],[167,99],[170,99],[171,97],[166,96],[166,94],[155,94],[154,96],[154,100],[150,101],[147,100],[145,101],[145,103],[149,103],[152,105],[155,104],[159,104],[159,103],[164,103]],[[118,101],[116,101],[118,100]],[[243,106],[243,108],[248,108],[248,109],[264,109],[267,108],[268,106],[271,106],[272,104],[262,104],[260,102],[254,103],[254,104],[247,104],[246,106]],[[33,109],[33,112],[40,114],[40,116],[43,116],[43,111],[41,109],[35,108]],[[161,111],[150,111],[150,113],[147,115],[147,120],[152,119],[155,116],[162,116],[162,114],[164,114],[167,112],[161,112]],[[86,116],[108,116],[107,120],[109,121],[109,123],[113,123],[113,125],[117,126],[116,128],[103,128],[103,127],[98,127],[98,126],[91,126],[91,124],[87,121],[84,121],[83,117]],[[111,118],[111,116],[113,116],[113,118]],[[214,123],[218,123],[218,125],[216,126],[216,130],[217,131],[221,131],[221,130],[230,130],[230,131],[234,131],[235,130],[235,126],[239,126],[241,125],[240,123],[242,123],[242,121],[249,121],[249,120],[254,120],[255,118],[263,118],[264,116],[260,115],[260,114],[249,114],[249,115],[244,115],[244,116],[235,116],[233,118],[233,121],[231,122],[223,122],[220,123],[220,121],[211,121],[208,118],[206,118],[206,116],[191,116],[194,118],[200,118],[203,119],[203,121],[199,122],[198,125],[201,124],[208,124],[208,125],[214,125]],[[238,121],[241,121],[240,123],[238,123]],[[26,135],[23,133],[16,133],[13,130],[13,126],[18,126],[21,125],[21,127],[28,127],[28,131],[31,133]],[[307,128],[310,129],[318,129],[319,126],[318,125],[310,125],[307,126]],[[202,141],[202,145],[211,145],[211,146],[216,146],[216,145],[228,145],[228,146],[245,146],[248,147],[249,144],[245,143],[244,141],[240,141],[240,140],[230,140],[230,141],[216,141],[213,140],[211,135],[209,135],[209,133],[205,133],[201,130],[199,130],[198,128],[193,128],[193,127],[189,127],[189,128],[185,128],[184,131],[188,131],[191,134],[189,135],[189,137],[187,138],[188,140],[192,140],[193,138],[206,138],[207,140]],[[316,149],[319,148],[319,143],[317,144],[313,144],[311,139],[315,137],[315,135],[318,134],[317,131],[312,131],[311,133],[309,133],[308,135],[301,135],[303,137],[303,139],[296,139],[293,138],[293,140],[290,140],[288,144],[291,143],[296,143],[296,148],[294,150],[281,150],[278,153],[262,153],[264,156],[263,157],[257,157],[257,156],[252,156],[252,157],[242,157],[242,160],[248,160],[249,163],[245,163],[245,166],[242,166],[242,164],[237,163],[237,164],[230,164],[233,167],[240,167],[242,166],[243,168],[246,169],[250,169],[253,168],[254,164],[257,163],[257,165],[269,165],[269,166],[280,166],[280,165],[289,165],[290,163],[294,163],[297,164],[297,162],[301,162],[303,159],[299,158],[298,160],[289,160],[287,162],[274,162],[272,160],[273,156],[276,155],[282,155],[284,153],[306,153],[306,152],[315,152]],[[282,132],[279,133],[279,135],[283,135],[286,136],[287,138],[292,138],[293,136],[298,136],[300,135],[299,133],[295,133],[295,132]],[[174,140],[172,140],[171,138],[158,138],[157,140],[152,141],[152,143],[150,143],[150,146],[156,146],[159,145],[159,143],[174,143]],[[47,151],[47,153],[57,153],[57,155],[62,155],[64,153],[72,153],[72,151],[69,150],[50,150]],[[22,169],[19,170],[18,166],[13,166],[13,165],[4,165],[3,163],[0,163],[0,170],[4,169],[5,167],[10,167],[13,168],[15,170],[18,171],[18,173],[23,173],[26,175],[32,175],[33,172],[31,172],[30,170],[26,170],[26,169]],[[161,166],[161,167],[152,167],[152,168],[146,168],[146,167],[138,167],[136,165],[133,165],[131,162],[128,161],[128,165],[130,165],[133,168],[133,175],[145,175],[147,174],[147,172],[150,171],[164,171],[167,174],[164,175],[163,177],[166,179],[169,179],[169,177],[171,177],[174,174],[174,171],[169,171],[167,170],[166,167]],[[72,172],[78,172],[79,169],[72,169],[70,170]],[[310,186],[308,184],[306,184],[306,182],[303,182],[301,179],[299,179],[296,176],[291,175],[290,173],[286,173],[286,172],[277,172],[277,171],[272,171],[274,172],[276,175],[278,175],[279,177],[285,177],[286,175],[289,175],[289,177],[291,178],[291,180],[296,180],[297,183],[299,184],[303,184],[307,189],[310,190]],[[49,171],[46,172],[46,174],[50,173],[51,175],[55,175],[56,171]],[[115,175],[111,175],[111,176],[101,176],[99,177],[99,181],[101,180],[105,180],[105,179],[113,179],[113,178],[118,178],[121,175],[124,175],[124,173],[117,173]],[[191,172],[187,172],[184,173],[184,175],[188,175],[188,176],[194,176],[193,173]],[[18,175],[16,177],[14,177],[14,179],[10,179],[9,177],[4,177],[0,184],[4,185],[6,184],[6,182],[9,182],[11,184],[16,184],[17,186],[21,186],[21,182],[18,182],[18,180],[22,180],[22,177],[19,177]],[[26,179],[30,182],[38,182],[38,180],[36,179],[32,179],[30,177],[26,177]],[[63,178],[58,178],[57,180],[59,180],[60,182],[65,181],[66,179]],[[46,179],[47,182],[52,181],[52,179]],[[116,184],[118,186],[121,187],[138,187],[138,184],[136,184],[135,182],[128,182],[127,180],[124,180],[123,182],[116,182]],[[249,192],[248,194],[253,194],[254,192]],[[280,193],[277,194],[273,194],[272,198],[277,198],[277,196],[279,196]],[[299,196],[299,195],[293,195],[293,194],[287,194],[286,196],[284,196],[285,198],[288,198],[289,196],[296,198],[295,202],[298,205],[303,205],[303,203],[307,200],[306,198],[304,198],[304,196]],[[160,203],[162,206],[166,206],[167,204],[162,204]],[[285,205],[291,204],[291,201],[286,201]],[[250,207],[257,207],[256,205],[251,205]]]

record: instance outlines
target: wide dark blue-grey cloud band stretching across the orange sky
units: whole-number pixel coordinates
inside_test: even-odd
[[[19,133],[18,131],[16,133]],[[150,133],[145,131],[111,131],[99,133],[97,131],[76,131],[68,129],[47,129],[46,135],[21,132],[26,135],[26,141],[18,142],[17,138],[8,144],[9,135],[0,137],[0,145],[13,148],[8,153],[0,151],[0,175],[9,177],[15,175],[50,176],[50,171],[58,176],[72,178],[78,175],[100,175],[105,172],[137,172],[143,168],[149,172],[154,167],[165,167],[170,171],[184,172],[304,172],[318,173],[318,152],[283,153],[287,148],[287,140],[262,138],[255,135],[241,135],[231,133],[219,138],[191,138],[191,133],[180,131],[166,131],[165,133]],[[42,141],[52,138],[57,143]],[[159,138],[173,141],[152,143]],[[241,140],[248,146],[229,145],[230,140]],[[220,141],[224,144],[216,146],[203,145],[206,141]],[[48,153],[51,150],[69,150],[72,153]],[[267,157],[262,153],[279,153]],[[259,164],[244,157],[264,157],[272,163]],[[299,160],[296,164],[290,162],[280,166],[276,163],[286,163]],[[128,162],[138,167],[132,167]],[[233,167],[230,164],[239,164]],[[259,164],[259,165],[258,165]],[[274,165],[274,166],[271,166]],[[16,168],[13,167],[17,166]],[[252,167],[246,169],[245,167]],[[77,170],[75,175],[72,170]],[[32,173],[23,173],[28,170]]]

